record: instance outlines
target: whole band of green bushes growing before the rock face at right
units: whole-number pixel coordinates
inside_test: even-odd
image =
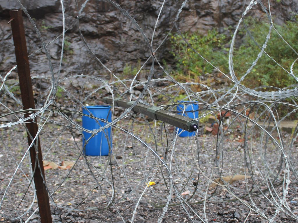
[[[242,37],[242,39],[237,39],[233,48],[233,67],[238,80],[246,73],[260,53],[270,26],[268,22],[257,21],[252,18],[245,19],[244,23],[247,28],[243,26],[239,30],[238,37]],[[282,26],[274,24],[274,27],[297,52],[297,22],[288,21]],[[228,45],[228,39],[230,38],[226,37],[224,34],[219,34],[215,29],[209,31],[206,35],[195,32],[184,33],[183,37],[205,59],[224,73],[229,74],[229,49],[225,48],[225,45]],[[209,65],[201,56],[194,52],[179,34],[173,34],[170,38],[170,42],[172,46],[171,53],[176,60],[174,77],[177,80],[199,82],[199,76],[213,72],[214,67]],[[271,31],[265,51],[288,71],[290,71],[292,63],[297,58],[297,54],[285,43],[274,29]],[[249,88],[259,86],[283,88],[297,84],[297,81],[283,70],[282,67],[277,65],[276,62],[269,56],[263,54],[242,83]],[[297,75],[298,63],[294,64],[293,72]],[[266,91],[265,88],[263,90]]]

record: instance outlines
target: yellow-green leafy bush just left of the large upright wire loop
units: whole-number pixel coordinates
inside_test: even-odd
[[[184,33],[183,37],[195,51],[212,64],[223,65],[226,63],[228,49],[224,48],[224,44],[227,42],[224,34],[219,34],[215,29],[212,29],[207,35],[195,32]],[[171,53],[177,61],[176,77],[178,75],[178,78],[179,76],[180,78],[188,76],[189,79],[196,79],[197,76],[212,73],[214,67],[188,47],[181,35],[172,35],[170,41],[172,43]],[[218,68],[223,69],[223,67]]]

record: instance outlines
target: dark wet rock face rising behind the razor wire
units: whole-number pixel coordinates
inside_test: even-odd
[[[63,29],[62,7],[59,0],[21,1],[34,19],[44,43],[49,43],[61,34]],[[88,74],[103,76],[108,74],[106,66],[111,72],[122,72],[128,65],[143,64],[151,55],[148,43],[144,40],[137,26],[125,16],[117,7],[119,4],[129,12],[138,25],[142,28],[151,43],[156,19],[162,7],[161,0],[118,0],[111,4],[109,1],[90,0],[85,7],[85,0],[64,0],[65,34],[64,55],[62,60],[61,75]],[[181,5],[182,1],[178,1]],[[168,41],[163,39],[173,28],[172,32],[199,31],[206,33],[207,30],[217,28],[219,32],[231,33],[235,29],[243,10],[249,4],[242,0],[200,0],[188,1],[184,5],[175,27],[175,17],[180,5],[176,1],[165,1],[157,23],[153,49],[157,58],[162,61],[169,60]],[[264,3],[265,4],[265,3]],[[266,6],[266,5],[265,5]],[[268,8],[268,5],[266,6]],[[17,1],[0,0],[0,72],[5,75],[14,65],[15,56],[13,40],[9,21],[9,10],[18,9]],[[274,23],[284,23],[291,19],[293,13],[298,12],[298,2],[281,0],[271,1],[271,14]],[[78,16],[78,13],[80,15]],[[253,6],[248,15],[266,19],[259,4]],[[77,19],[78,18],[78,19]],[[29,53],[37,51],[42,45],[30,21],[24,17],[27,47]],[[230,27],[229,30],[225,29]],[[54,73],[56,74],[61,54],[61,37],[47,46],[51,56]],[[96,59],[100,60],[100,62]],[[145,66],[150,66],[148,64]],[[104,65],[104,66],[103,66]],[[30,57],[32,75],[50,75],[49,62],[44,50],[38,51]],[[158,72],[156,74],[158,76]]]

